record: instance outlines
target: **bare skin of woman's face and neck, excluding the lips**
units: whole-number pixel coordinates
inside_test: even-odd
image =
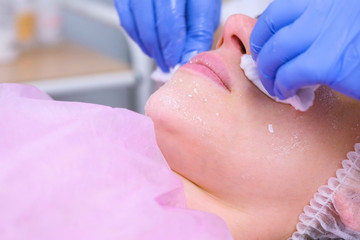
[[[146,113],[190,208],[221,216],[234,239],[279,240],[359,142],[360,108],[326,87],[307,112],[261,93],[239,67],[255,21],[230,17],[210,52],[224,62],[230,91],[182,67]]]

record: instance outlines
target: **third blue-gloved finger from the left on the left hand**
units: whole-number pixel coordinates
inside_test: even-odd
[[[165,62],[174,67],[180,62],[186,40],[186,1],[155,1],[157,28]]]

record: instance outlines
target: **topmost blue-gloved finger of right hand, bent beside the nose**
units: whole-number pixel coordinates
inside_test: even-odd
[[[250,36],[250,50],[256,61],[264,44],[281,28],[292,24],[305,11],[311,0],[278,0],[259,17]]]

